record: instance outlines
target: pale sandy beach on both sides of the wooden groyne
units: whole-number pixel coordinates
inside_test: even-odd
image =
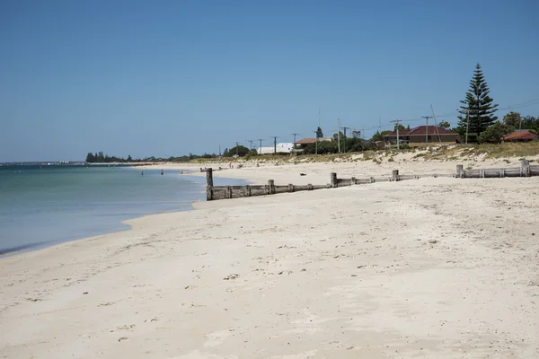
[[[324,184],[331,171],[359,178],[468,165],[401,160],[267,163],[214,176]],[[428,178],[195,206],[0,258],[0,356],[539,357],[537,177]]]

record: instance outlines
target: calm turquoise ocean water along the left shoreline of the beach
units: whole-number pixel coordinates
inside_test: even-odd
[[[128,229],[124,220],[192,209],[206,179],[121,166],[0,166],[0,254]],[[216,185],[239,181],[215,179]],[[219,183],[221,182],[221,183]],[[234,183],[231,183],[234,182]]]

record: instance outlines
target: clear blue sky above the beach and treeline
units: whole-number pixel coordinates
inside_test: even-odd
[[[500,108],[539,116],[516,106],[539,99],[538,17],[535,0],[0,0],[0,162],[291,142],[319,108],[330,136],[455,114],[477,62]]]

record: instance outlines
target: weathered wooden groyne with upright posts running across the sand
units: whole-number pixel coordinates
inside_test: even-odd
[[[384,177],[369,177],[358,179],[351,177],[349,179],[337,178],[337,173],[331,172],[330,183],[325,185],[294,185],[287,184],[278,186],[274,180],[268,180],[267,185],[245,185],[245,186],[214,186],[213,185],[213,170],[208,168],[206,171],[207,181],[207,199],[213,201],[216,199],[268,196],[279,193],[292,193],[305,190],[315,190],[323,188],[340,188],[347,186],[355,186],[376,182],[396,182],[401,180],[419,180],[421,178],[459,178],[459,179],[489,179],[489,178],[504,178],[504,177],[532,177],[539,176],[539,165],[530,166],[527,160],[522,160],[520,167],[508,169],[477,169],[464,170],[462,164],[456,166],[455,173],[442,174],[426,174],[426,175],[401,175],[399,170],[393,170],[390,176]]]

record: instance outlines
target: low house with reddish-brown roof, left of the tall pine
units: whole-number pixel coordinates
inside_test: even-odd
[[[399,142],[411,146],[424,144],[455,144],[458,134],[455,131],[437,126],[420,126],[399,130]],[[384,135],[386,145],[397,144],[397,131]]]

